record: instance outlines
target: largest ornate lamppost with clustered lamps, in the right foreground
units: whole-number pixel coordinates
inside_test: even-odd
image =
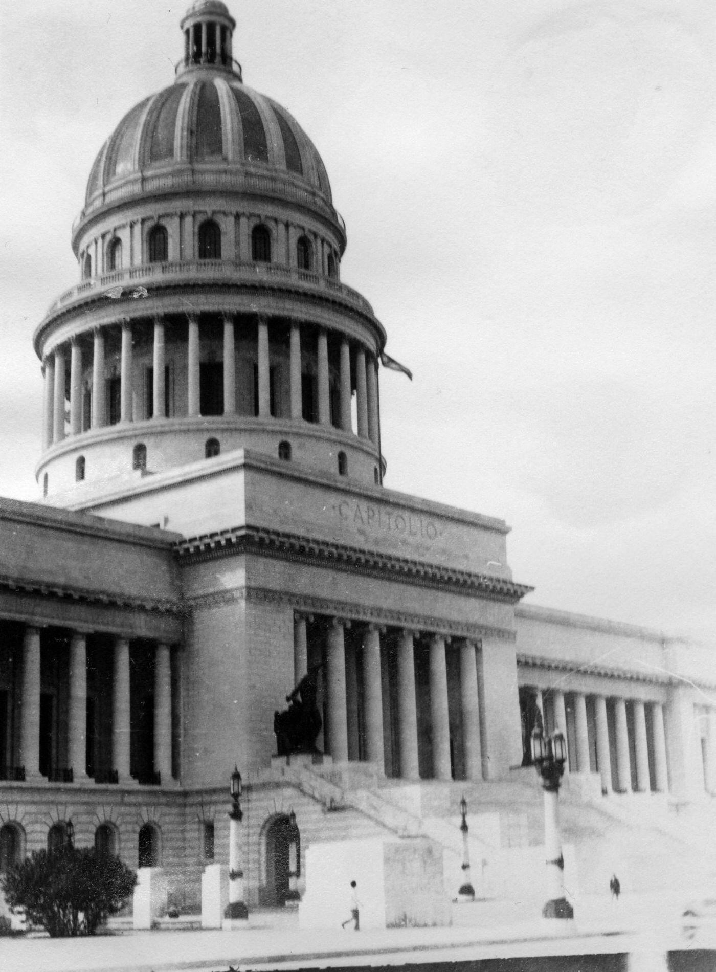
[[[574,909],[564,896],[564,858],[560,837],[560,783],[566,762],[566,744],[561,732],[544,737],[535,727],[531,736],[532,762],[544,790],[544,846],[547,854],[547,887],[550,897],[542,909],[544,918],[574,918]]]

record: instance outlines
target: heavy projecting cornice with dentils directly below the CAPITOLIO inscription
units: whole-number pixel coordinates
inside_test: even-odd
[[[532,590],[525,584],[517,584],[513,580],[493,574],[459,571],[363,547],[248,525],[181,540],[175,549],[180,563],[183,564],[252,553],[297,564],[328,567],[419,587],[431,587],[452,594],[484,597],[507,604],[516,604]]]

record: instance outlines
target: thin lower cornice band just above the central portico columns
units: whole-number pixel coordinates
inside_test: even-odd
[[[351,601],[293,594],[290,591],[277,591],[266,587],[237,587],[233,590],[197,594],[187,599],[188,606],[195,611],[211,610],[241,602],[281,605],[305,614],[327,614],[349,621],[409,628],[415,632],[428,632],[429,634],[443,635],[446,638],[467,638],[475,641],[490,638],[514,642],[516,637],[515,632],[509,628],[451,621],[431,614],[420,614],[413,611],[392,610],[391,608],[374,606],[366,608],[364,605]]]

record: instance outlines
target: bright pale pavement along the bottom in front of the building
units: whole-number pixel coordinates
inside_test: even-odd
[[[493,914],[491,914],[491,909]],[[716,936],[695,943],[658,897],[584,898],[574,922],[514,920],[494,905],[462,906],[447,928],[306,931],[293,912],[256,912],[234,931],[121,932],[88,939],[0,939],[1,972],[227,972],[234,968],[404,964],[516,955],[638,952],[644,969],[665,970],[669,948],[716,948]],[[503,920],[497,920],[501,918]],[[460,922],[460,923],[458,923]],[[633,965],[636,968],[636,964]],[[640,966],[639,966],[640,967]],[[716,967],[716,959],[714,961]]]

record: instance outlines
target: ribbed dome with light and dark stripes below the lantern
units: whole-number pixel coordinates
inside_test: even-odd
[[[194,6],[225,11],[217,0]],[[321,156],[289,112],[213,71],[181,77],[127,112],[92,165],[85,203],[127,177],[187,165],[268,166],[292,173],[331,203]]]

